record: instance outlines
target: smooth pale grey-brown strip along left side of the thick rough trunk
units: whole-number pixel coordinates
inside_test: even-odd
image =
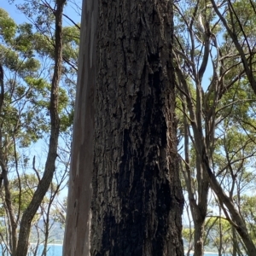
[[[63,255],[90,255],[97,1],[84,1]]]

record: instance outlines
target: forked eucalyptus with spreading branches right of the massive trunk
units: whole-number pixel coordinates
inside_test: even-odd
[[[243,113],[248,115],[254,108],[253,96],[250,93],[248,96],[240,97],[244,88],[249,92],[247,80],[250,82],[250,79],[246,77],[247,68],[229,32],[222,29],[222,19],[212,8],[212,3],[184,1],[178,2],[175,8],[177,37],[173,55],[176,58],[175,70],[180,98],[180,104],[177,107],[183,113],[183,125],[180,130],[184,143],[183,175],[195,222],[195,255],[203,253],[209,185],[218,196],[225,218],[241,236],[247,248],[247,254],[254,255],[256,252],[252,238],[249,236],[239,208],[232,199],[234,189],[230,186],[230,196],[226,195],[223,183],[216,175],[219,171],[216,150],[221,143],[224,143],[225,131],[222,128],[227,124],[227,117],[232,114],[234,120],[234,116],[237,119],[241,114],[234,110],[244,107],[246,109]],[[224,8],[224,5],[222,4],[219,8]],[[227,18],[225,10],[223,12],[223,16]],[[236,31],[236,33],[239,37],[239,32]],[[253,60],[254,52],[246,47],[244,50],[248,58]],[[227,97],[228,94],[230,97]],[[231,129],[234,131],[235,127],[237,126],[230,126],[230,131]],[[241,131],[241,126],[239,129],[239,132],[244,133]],[[248,140],[252,147],[253,137],[243,140],[241,149],[248,146]],[[233,143],[236,143],[235,141]],[[226,161],[230,164],[228,157],[232,153],[232,148],[228,151]],[[237,150],[237,164],[253,156],[254,150],[244,158]],[[233,177],[233,185],[237,181],[237,175],[234,173],[240,173],[240,169],[235,171],[229,166],[224,167],[225,173],[229,172]]]

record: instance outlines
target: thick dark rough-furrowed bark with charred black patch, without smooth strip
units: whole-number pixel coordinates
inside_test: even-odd
[[[91,255],[183,255],[172,3],[100,3]]]

